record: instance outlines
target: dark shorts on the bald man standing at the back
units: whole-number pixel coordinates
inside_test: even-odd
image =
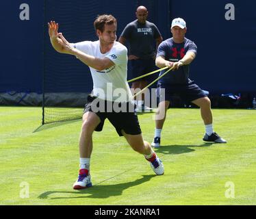
[[[156,70],[155,60],[152,58],[150,60],[131,60],[131,77],[136,78],[146,73],[150,73],[153,70]],[[138,81],[153,81],[157,78],[157,73],[149,75],[139,79]]]

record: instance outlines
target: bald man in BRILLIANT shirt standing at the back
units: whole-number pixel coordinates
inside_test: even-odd
[[[163,38],[155,26],[155,24],[146,21],[149,12],[144,6],[140,6],[136,10],[136,21],[129,23],[123,33],[120,35],[119,42],[125,44],[129,42],[129,56],[131,62],[131,77],[139,77],[145,73],[155,70],[155,53],[158,45]],[[142,90],[148,84],[148,80],[152,77],[145,77],[134,81],[131,85],[132,90],[140,88]],[[136,111],[142,110],[142,102],[144,96],[137,96]],[[149,107],[145,106],[145,111],[149,111]]]

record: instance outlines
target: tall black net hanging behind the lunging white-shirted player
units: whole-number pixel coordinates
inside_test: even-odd
[[[51,47],[47,22],[59,23],[59,32],[69,42],[98,40],[93,27],[94,19],[98,14],[113,14],[118,20],[119,37],[125,25],[136,19],[138,5],[145,5],[150,12],[149,21],[157,22],[159,3],[153,0],[44,1],[43,124],[81,118],[87,95],[92,90],[88,66],[71,55],[57,53]]]

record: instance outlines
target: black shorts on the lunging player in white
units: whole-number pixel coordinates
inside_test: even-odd
[[[104,109],[102,110],[102,108],[100,108],[100,110],[97,112],[95,109],[99,109],[100,104],[104,106]],[[118,108],[121,109],[120,112],[115,112],[115,110],[113,110],[115,109],[114,105],[116,106],[116,104],[118,105]],[[115,127],[119,136],[123,136],[122,130],[129,135],[139,135],[142,133],[138,116],[136,112],[134,112],[133,103],[115,103],[97,99],[97,97],[89,95],[88,103],[86,103],[84,108],[84,113],[86,112],[94,112],[101,120],[101,123],[99,123],[95,131],[102,131],[104,121],[107,118]]]

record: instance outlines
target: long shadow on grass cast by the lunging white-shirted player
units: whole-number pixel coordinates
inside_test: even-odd
[[[49,191],[44,192],[38,196],[38,198],[49,198],[51,194],[75,194],[77,196],[66,196],[66,197],[56,197],[56,198],[50,198],[50,199],[69,199],[69,198],[108,198],[110,196],[120,196],[124,190],[127,188],[131,188],[136,185],[140,185],[146,181],[149,181],[151,178],[156,177],[156,175],[142,175],[142,178],[137,179],[133,182],[128,183],[120,183],[120,184],[114,184],[114,185],[99,185],[100,183],[97,183],[93,185],[91,188],[87,188],[85,190],[73,190],[73,192],[67,192],[67,191]],[[106,180],[105,180],[106,181]]]

